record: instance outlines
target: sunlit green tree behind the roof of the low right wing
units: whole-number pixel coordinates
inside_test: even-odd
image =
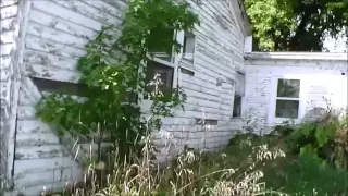
[[[244,0],[262,51],[322,51],[348,22],[347,0]]]

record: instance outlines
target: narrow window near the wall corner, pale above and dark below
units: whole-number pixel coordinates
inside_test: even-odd
[[[235,97],[233,101],[233,118],[241,115],[241,97],[245,95],[245,74],[237,72],[235,79]]]

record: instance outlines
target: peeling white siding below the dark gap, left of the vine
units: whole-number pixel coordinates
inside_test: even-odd
[[[14,192],[25,188],[28,195],[38,194],[44,186],[62,188],[67,182],[82,177],[80,168],[72,157],[73,150],[62,146],[61,139],[50,126],[36,120],[35,105],[40,98],[41,93],[32,81],[23,77],[13,179]],[[40,175],[40,179],[35,181],[33,175]]]

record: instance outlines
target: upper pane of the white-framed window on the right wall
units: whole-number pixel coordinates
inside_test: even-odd
[[[277,97],[299,98],[300,81],[299,79],[278,79]]]

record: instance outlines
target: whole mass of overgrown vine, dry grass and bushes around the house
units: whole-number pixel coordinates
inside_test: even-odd
[[[87,87],[83,98],[53,94],[38,103],[37,115],[59,125],[61,134],[98,137],[98,161],[86,169],[85,181],[61,195],[347,195],[347,121],[332,115],[299,128],[279,126],[269,136],[238,135],[223,152],[185,148],[169,166],[153,163],[150,133],[185,93],[179,86],[162,91],[158,74],[146,84],[146,63],[153,51],[179,51],[179,42],[163,35],[197,24],[186,3],[133,0],[121,36],[105,27],[86,46],[78,63]],[[142,95],[152,100],[148,120],[138,107]],[[101,155],[105,138],[113,144],[108,167]]]

